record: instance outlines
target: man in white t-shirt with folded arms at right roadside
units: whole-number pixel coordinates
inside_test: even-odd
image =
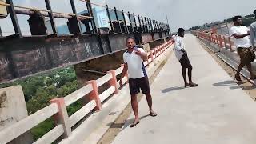
[[[242,26],[242,17],[235,16],[233,18],[234,26],[230,28],[230,36],[234,37],[234,45],[238,48],[238,55],[240,56],[240,64],[238,66],[237,74],[235,74],[235,79],[238,82],[241,82],[240,71],[244,66],[247,66],[250,72],[250,78],[255,79],[251,62],[254,61],[254,55],[252,54],[250,46],[250,31],[246,26]]]

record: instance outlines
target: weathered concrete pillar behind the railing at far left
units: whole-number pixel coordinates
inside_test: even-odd
[[[0,131],[27,116],[28,113],[22,86],[12,86],[0,89]],[[30,134],[30,131],[28,131],[8,143],[29,144],[32,142],[32,135]]]

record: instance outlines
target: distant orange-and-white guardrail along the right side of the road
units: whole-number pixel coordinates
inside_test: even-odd
[[[231,40],[229,36],[221,35],[221,34],[210,34],[206,32],[195,32],[199,38],[206,39],[209,42],[217,44],[220,48],[226,47],[230,49],[231,52],[235,51],[236,46],[234,46],[234,42]]]

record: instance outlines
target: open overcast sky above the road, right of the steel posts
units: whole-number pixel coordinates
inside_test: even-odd
[[[92,0],[99,1],[99,0]],[[106,0],[110,6],[144,14],[166,22],[167,13],[171,30],[190,28],[206,22],[220,21],[236,14],[252,14],[256,0]]]

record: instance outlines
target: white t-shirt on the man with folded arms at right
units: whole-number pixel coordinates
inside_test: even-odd
[[[230,36],[233,34],[247,34],[249,29],[246,26],[233,26],[230,29]],[[250,47],[250,39],[249,36],[244,38],[234,38],[234,44],[237,47],[249,48]]]

